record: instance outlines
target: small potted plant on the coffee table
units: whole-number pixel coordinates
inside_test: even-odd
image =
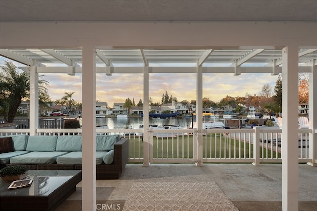
[[[14,181],[24,179],[27,174],[27,167],[23,165],[9,165],[1,169],[2,181]]]

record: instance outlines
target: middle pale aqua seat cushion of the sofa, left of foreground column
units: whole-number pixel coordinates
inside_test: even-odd
[[[10,159],[11,164],[56,164],[56,158],[67,152],[43,152],[34,151]]]

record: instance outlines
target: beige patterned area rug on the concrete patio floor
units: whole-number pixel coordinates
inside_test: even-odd
[[[124,211],[238,211],[215,182],[133,182]]]

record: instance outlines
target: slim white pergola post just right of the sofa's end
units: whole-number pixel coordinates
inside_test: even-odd
[[[149,66],[143,67],[143,166],[149,166]]]

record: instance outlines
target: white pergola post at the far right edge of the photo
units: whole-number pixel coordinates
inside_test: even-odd
[[[311,166],[317,166],[317,111],[315,111],[317,106],[317,66],[314,66],[314,61],[312,61],[312,72],[308,74],[308,117],[309,117],[309,129],[312,129],[312,133],[309,134],[309,158],[312,162],[307,164]],[[315,107],[314,107],[315,106]],[[315,112],[314,112],[315,111]]]

